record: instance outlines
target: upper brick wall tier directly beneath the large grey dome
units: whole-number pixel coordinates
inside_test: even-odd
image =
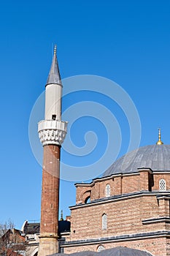
[[[161,178],[166,181],[166,190],[170,190],[169,173],[154,173],[139,170],[139,173],[112,176],[93,181],[91,184],[77,184],[77,203],[85,203],[85,192],[90,191],[91,200],[106,197],[106,186],[110,185],[110,195],[122,195],[139,191],[158,191]]]

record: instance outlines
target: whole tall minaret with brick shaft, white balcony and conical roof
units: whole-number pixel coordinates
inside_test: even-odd
[[[58,252],[60,153],[67,127],[67,122],[61,121],[62,87],[55,46],[45,86],[45,120],[38,124],[39,139],[44,147],[39,256]]]

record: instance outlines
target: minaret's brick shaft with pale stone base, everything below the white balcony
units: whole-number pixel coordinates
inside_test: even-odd
[[[39,255],[58,252],[60,146],[44,146]]]

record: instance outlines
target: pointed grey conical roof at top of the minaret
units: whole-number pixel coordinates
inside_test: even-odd
[[[47,78],[46,86],[51,83],[53,83],[53,84],[56,83],[56,84],[62,85],[61,75],[60,75],[60,71],[58,68],[58,61],[57,61],[57,56],[56,56],[56,45],[54,48],[53,61],[52,61],[50,72],[49,72],[49,75]]]

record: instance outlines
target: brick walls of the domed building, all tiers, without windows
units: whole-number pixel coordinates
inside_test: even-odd
[[[163,195],[163,192],[159,192],[161,178],[166,181],[167,194],[170,189],[169,173],[153,173],[150,169],[140,169],[139,173],[98,178],[91,184],[77,184],[77,206],[71,208],[72,230],[66,240],[135,236],[139,233],[170,230],[169,222],[161,220],[164,217],[169,218],[169,194]],[[115,197],[106,197],[107,184],[110,186],[110,196]],[[152,193],[154,191],[157,192],[156,195]],[[85,198],[88,196],[91,203],[85,204]],[[107,214],[106,230],[102,230],[102,214]],[[96,251],[98,245],[92,243],[66,247],[65,252],[88,249]],[[103,245],[106,249],[112,246],[128,246],[147,250],[155,256],[170,256],[170,241],[166,237],[142,239],[141,236],[136,241],[114,241]]]

